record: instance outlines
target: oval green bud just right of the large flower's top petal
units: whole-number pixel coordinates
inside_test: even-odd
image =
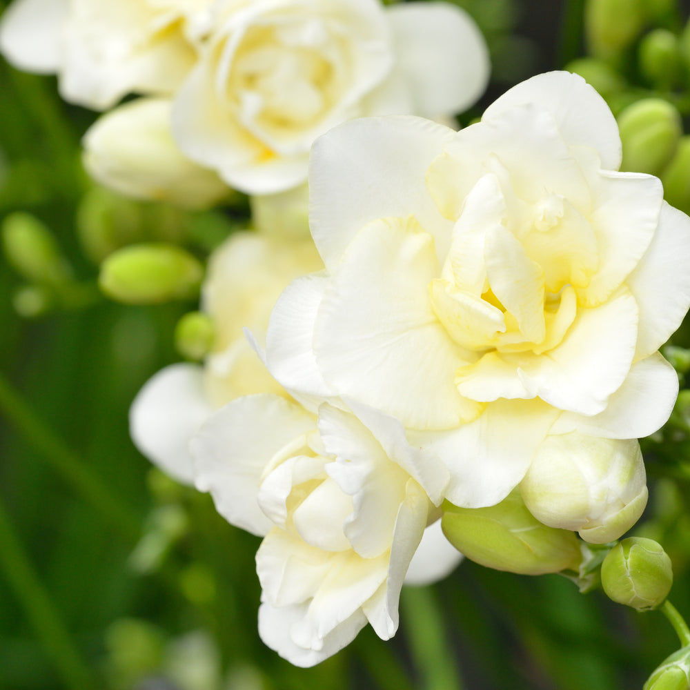
[[[682,136],[680,113],[668,101],[646,98],[628,106],[618,116],[623,144],[620,169],[659,175]]]

